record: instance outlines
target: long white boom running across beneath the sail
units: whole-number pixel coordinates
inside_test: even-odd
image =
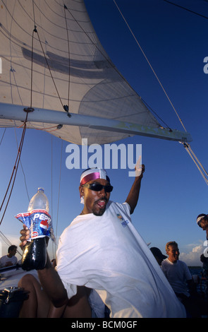
[[[13,121],[25,121],[26,113],[21,105],[10,105],[6,103],[0,104],[0,120],[11,119]],[[133,124],[126,121],[115,119],[104,119],[102,117],[92,117],[85,114],[74,114],[70,112],[54,111],[51,109],[35,108],[27,115],[28,122],[44,122],[48,124],[59,124],[63,126],[87,126],[91,129],[99,129],[106,131],[116,131],[121,133],[140,136],[150,136],[154,138],[162,138],[170,141],[190,142],[192,138],[190,134],[178,130],[164,129],[160,127],[145,126],[143,124]],[[2,125],[3,126],[3,125]]]

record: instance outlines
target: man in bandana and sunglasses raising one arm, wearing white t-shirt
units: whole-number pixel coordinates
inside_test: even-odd
[[[56,307],[85,285],[97,291],[112,318],[185,317],[183,305],[130,220],[144,170],[140,166],[122,204],[109,200],[113,187],[104,170],[82,173],[84,207],[59,239],[56,271],[49,264],[38,271]]]

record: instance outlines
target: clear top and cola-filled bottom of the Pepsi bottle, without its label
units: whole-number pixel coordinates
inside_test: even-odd
[[[34,213],[31,213],[35,210]],[[27,212],[32,215],[31,218],[34,219],[34,214],[38,215],[38,211],[47,211],[49,213],[49,201],[47,196],[44,194],[43,188],[37,189],[37,194],[35,194],[29,203]],[[39,215],[44,215],[39,213]],[[39,219],[37,219],[38,225],[35,228],[39,229]],[[33,227],[34,228],[34,227]],[[33,232],[35,233],[35,232]],[[47,237],[38,237],[36,232],[36,237],[33,237],[30,230],[30,241],[25,245],[25,249],[22,257],[22,268],[23,270],[30,271],[32,269],[42,270],[47,262]]]

